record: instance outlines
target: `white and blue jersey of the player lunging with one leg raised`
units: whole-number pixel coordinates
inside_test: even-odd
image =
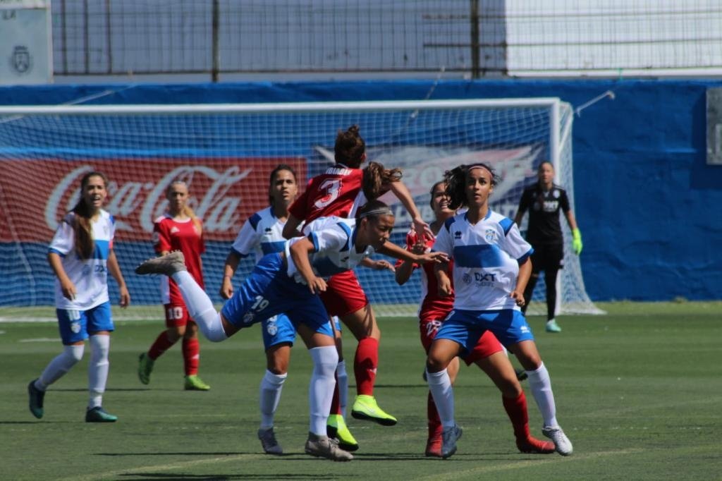
[[[356,220],[342,217],[318,217],[303,228],[303,233],[313,243],[310,264],[318,277],[328,279],[356,267],[362,259],[373,254],[374,248],[365,246],[364,251],[356,251]],[[286,244],[288,275],[296,282],[305,284],[290,254],[290,246],[301,238],[294,238]]]

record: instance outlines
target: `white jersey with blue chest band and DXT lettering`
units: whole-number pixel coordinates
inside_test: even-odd
[[[509,294],[516,287],[519,263],[534,249],[513,220],[491,209],[475,225],[466,212],[455,215],[444,223],[433,250],[453,258],[455,309],[519,309]]]

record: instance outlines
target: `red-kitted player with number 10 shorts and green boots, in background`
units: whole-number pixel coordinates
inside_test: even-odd
[[[160,254],[181,251],[186,258],[188,272],[203,287],[203,261],[201,254],[206,251],[203,242],[203,225],[191,207],[188,207],[188,185],[184,181],[173,181],[165,190],[168,212],[155,220],[153,225],[153,247]],[[165,326],[150,346],[148,352],[140,355],[138,378],[143,384],[150,382],[155,360],[183,339],[183,365],[186,372],[185,389],[208,391],[211,386],[198,377],[200,344],[198,326],[188,317],[188,308],[178,286],[168,277],[160,282],[160,297],[165,310]]]

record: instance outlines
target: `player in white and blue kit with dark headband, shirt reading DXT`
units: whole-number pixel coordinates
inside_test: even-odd
[[[439,294],[454,294],[454,301],[427,358],[429,389],[443,425],[441,456],[454,454],[461,437],[461,428],[454,421],[447,367],[456,355],[474,352],[487,330],[514,352],[526,369],[544,418],[542,433],[554,441],[559,454],[567,456],[572,444],[557,423],[549,373],[520,310],[533,249],[521,238],[516,224],[489,208],[489,196],[499,179],[488,165],[460,165],[447,171],[444,180],[448,207],[466,206],[469,210],[444,222],[433,247],[454,261],[453,284],[448,264],[435,267]]]

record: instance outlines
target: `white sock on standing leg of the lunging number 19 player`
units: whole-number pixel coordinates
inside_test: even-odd
[[[308,386],[310,424],[308,430],[316,436],[326,436],[331,401],[334,398],[334,372],[339,364],[336,346],[312,347],[308,353],[313,359],[313,374]]]

